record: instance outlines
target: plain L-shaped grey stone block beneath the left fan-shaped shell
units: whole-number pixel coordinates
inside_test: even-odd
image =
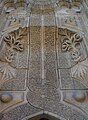
[[[1,91],[20,91],[26,89],[27,70],[17,69],[15,71],[15,77],[12,79],[1,81]]]

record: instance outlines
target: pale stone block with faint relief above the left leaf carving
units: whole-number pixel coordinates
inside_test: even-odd
[[[19,27],[22,27],[22,28],[28,27],[29,14],[30,12],[27,13],[27,11],[24,9],[16,9],[16,10],[7,12],[6,13],[7,21],[4,25],[3,33],[9,33],[11,31],[19,29]]]

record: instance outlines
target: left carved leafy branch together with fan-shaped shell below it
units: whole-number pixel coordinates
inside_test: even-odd
[[[24,46],[22,39],[26,34],[26,28],[20,28],[3,37],[3,41],[6,43],[7,51],[5,53],[5,57],[3,58],[6,62],[3,62],[3,60],[0,61],[0,72],[2,73],[2,80],[9,80],[16,76],[16,69],[13,68],[10,63],[14,59],[14,51],[23,52]]]

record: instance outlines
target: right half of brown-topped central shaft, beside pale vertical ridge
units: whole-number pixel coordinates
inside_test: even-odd
[[[57,86],[58,75],[56,66],[56,51],[55,51],[55,31],[54,26],[44,27],[44,70],[47,83],[52,86]]]

